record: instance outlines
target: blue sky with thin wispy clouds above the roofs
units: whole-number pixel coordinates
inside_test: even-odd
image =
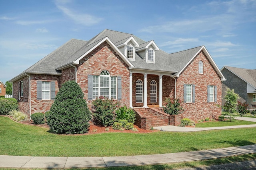
[[[167,53],[205,45],[222,66],[256,69],[256,0],[0,0],[0,81],[71,38],[104,29],[154,40]]]

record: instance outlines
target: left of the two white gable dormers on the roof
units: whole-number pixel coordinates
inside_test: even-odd
[[[127,57],[127,59],[130,61],[135,61],[135,48],[139,47],[139,44],[134,37],[128,37],[122,41],[119,41],[118,43],[119,45],[116,47],[118,47],[118,49],[124,53],[125,57]]]

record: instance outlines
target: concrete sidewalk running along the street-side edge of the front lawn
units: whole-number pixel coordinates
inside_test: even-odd
[[[192,152],[111,156],[111,157],[41,157],[41,156],[5,156],[0,155],[2,168],[89,168],[111,166],[140,166],[147,164],[167,164],[223,158],[241,154],[256,153],[256,145],[230,147],[223,149],[200,150]]]

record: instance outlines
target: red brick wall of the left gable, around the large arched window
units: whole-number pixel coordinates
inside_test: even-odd
[[[106,42],[80,60],[77,69],[77,83],[84,92],[84,98],[88,99],[88,75],[100,75],[102,70],[107,70],[110,76],[122,77],[122,100],[118,102],[121,105],[129,106],[129,66]],[[88,100],[89,108],[91,102],[92,100]]]

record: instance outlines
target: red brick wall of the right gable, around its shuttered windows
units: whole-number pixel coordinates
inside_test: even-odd
[[[204,63],[204,73],[198,73],[198,62]],[[177,78],[177,98],[184,100],[184,84],[195,84],[196,98],[194,103],[182,103],[184,113],[182,117],[188,117],[193,121],[199,121],[209,117],[217,119],[221,114],[221,80],[214,70],[206,55],[201,51],[198,56],[187,66]],[[207,86],[217,86],[217,102],[207,102]]]

